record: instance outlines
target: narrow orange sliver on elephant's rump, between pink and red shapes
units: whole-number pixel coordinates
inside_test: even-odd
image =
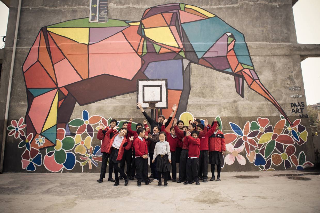
[[[47,45],[45,44],[43,33],[41,33],[40,45],[39,45],[39,62],[44,66],[49,75],[52,77],[53,81],[57,83],[56,76],[54,75],[52,62],[47,50]]]

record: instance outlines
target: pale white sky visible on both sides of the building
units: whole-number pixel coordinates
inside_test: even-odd
[[[296,26],[297,40],[300,44],[319,44],[320,27],[320,0],[299,0],[293,6],[294,22]],[[7,31],[9,8],[0,2],[0,36]],[[3,48],[0,37],[0,48]],[[306,93],[307,105],[320,102],[320,58],[307,58],[301,62],[302,77]],[[300,85],[296,85],[300,86]]]

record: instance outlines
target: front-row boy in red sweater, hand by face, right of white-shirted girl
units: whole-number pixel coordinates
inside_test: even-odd
[[[196,181],[196,185],[200,185],[199,182],[199,154],[200,154],[200,139],[198,138],[199,132],[194,130],[191,132],[191,137],[189,132],[186,132],[186,137],[184,140],[188,140],[189,144],[189,157],[187,160],[187,181],[183,184],[192,184],[192,178]],[[184,142],[184,141],[183,141]]]

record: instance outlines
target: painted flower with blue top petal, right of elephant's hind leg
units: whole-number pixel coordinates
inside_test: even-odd
[[[76,134],[82,135],[85,131],[88,135],[93,138],[93,127],[91,124],[96,124],[101,121],[102,117],[99,115],[93,115],[89,118],[89,113],[87,110],[82,111],[82,119],[77,118],[69,122],[69,126],[78,127]]]

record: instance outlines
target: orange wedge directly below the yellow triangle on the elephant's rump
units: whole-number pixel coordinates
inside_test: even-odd
[[[78,43],[51,32],[49,33],[79,75],[83,79],[88,78],[88,45]]]

